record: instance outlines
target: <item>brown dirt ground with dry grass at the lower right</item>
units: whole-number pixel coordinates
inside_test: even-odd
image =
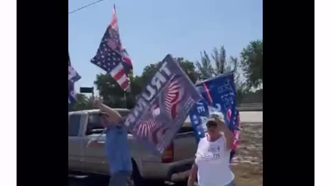
[[[263,185],[263,124],[242,123],[237,156],[232,160],[237,186]]]

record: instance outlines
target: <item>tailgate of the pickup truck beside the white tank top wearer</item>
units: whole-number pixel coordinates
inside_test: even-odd
[[[197,141],[193,132],[179,132],[174,136],[174,161],[194,158]]]

